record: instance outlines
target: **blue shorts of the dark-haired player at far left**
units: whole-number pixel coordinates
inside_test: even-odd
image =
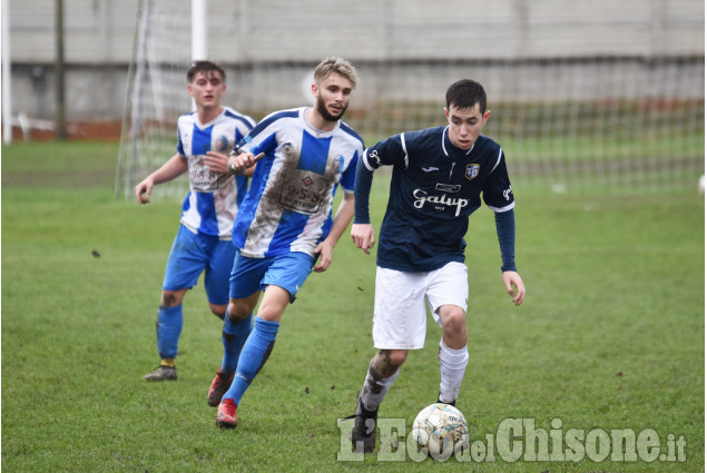
[[[208,302],[215,305],[228,304],[228,275],[235,256],[236,247],[233,242],[195,234],[179,225],[179,231],[169,250],[163,289],[189,289],[204,273]]]

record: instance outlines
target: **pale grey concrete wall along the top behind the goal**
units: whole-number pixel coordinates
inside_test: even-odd
[[[703,0],[207,1],[209,57],[234,66],[303,68],[332,53],[363,65],[705,53]],[[138,4],[65,0],[67,119],[120,119]],[[190,1],[149,4],[184,31],[167,55],[188,61]],[[16,115],[53,118],[53,8],[10,0]]]

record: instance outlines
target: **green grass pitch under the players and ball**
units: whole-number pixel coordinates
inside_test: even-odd
[[[458,406],[472,441],[495,441],[494,455],[416,462],[403,436],[406,460],[386,461],[395,438],[383,435],[383,454],[337,461],[337,425],[344,434],[351,425],[337,420],[353,414],[374,353],[374,258],[342,238],[330,270],[312,275],[287,309],[240,424],[222,431],[205,402],[222,323],[200,283],[185,299],[179,380],[141,378],[158,362],[155,318],[179,205],[116,200],[117,148],[2,147],[3,471],[705,471],[704,196],[515,188],[521,307],[504,293],[493,217],[480,209],[467,238],[471,361]],[[376,226],[386,190],[376,177]],[[436,398],[439,336],[430,324],[426,347],[410,355],[381,407],[383,423],[410,430]],[[553,453],[571,453],[572,430],[590,453],[533,461],[527,427],[511,444],[526,456],[504,460],[497,434],[523,418],[550,433],[550,447],[560,437]],[[667,461],[618,461],[607,451],[618,430],[654,430],[657,446],[645,436],[642,445]]]

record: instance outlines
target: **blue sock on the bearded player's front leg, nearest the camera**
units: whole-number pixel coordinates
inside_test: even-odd
[[[278,328],[278,322],[268,322],[258,316],[255,317],[253,332],[246,339],[245,345],[243,345],[243,351],[240,351],[236,376],[226,394],[224,394],[224,398],[232,398],[236,405],[240,403],[240,397],[243,397],[251,382],[271,355]]]

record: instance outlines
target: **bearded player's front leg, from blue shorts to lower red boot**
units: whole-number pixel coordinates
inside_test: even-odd
[[[275,345],[279,321],[287,305],[294,302],[297,290],[312,272],[314,258],[304,253],[289,253],[273,258],[262,279],[263,300],[238,358],[236,376],[218,406],[216,424],[235,427],[235,410],[251,383],[258,374]],[[223,407],[222,407],[223,406]],[[233,415],[232,415],[233,414]]]

